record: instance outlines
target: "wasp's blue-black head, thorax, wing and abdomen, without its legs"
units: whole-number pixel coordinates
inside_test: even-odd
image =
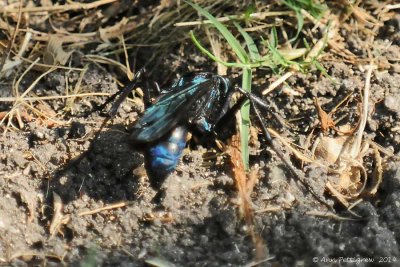
[[[233,90],[228,78],[189,73],[163,90],[156,103],[133,125],[130,141],[146,145],[146,169],[158,186],[175,170],[188,129],[211,132],[229,109]]]

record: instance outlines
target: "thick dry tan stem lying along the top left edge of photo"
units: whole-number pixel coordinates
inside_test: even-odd
[[[70,11],[70,10],[87,10],[87,9],[93,9],[97,8],[102,5],[106,5],[109,3],[113,3],[117,0],[100,0],[100,1],[95,1],[92,3],[74,3],[74,4],[69,4],[69,5],[53,5],[53,6],[36,6],[36,7],[26,7],[22,9],[13,9],[13,8],[7,8],[3,7],[0,8],[0,13],[17,13],[19,11],[21,12],[49,12],[49,11]],[[22,2],[22,1],[21,1]]]

